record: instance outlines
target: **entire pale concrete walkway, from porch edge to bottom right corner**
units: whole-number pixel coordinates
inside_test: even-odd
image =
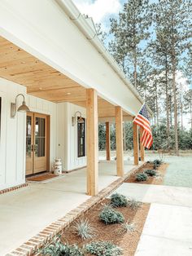
[[[151,203],[136,256],[192,255],[192,188],[124,183],[116,192]]]

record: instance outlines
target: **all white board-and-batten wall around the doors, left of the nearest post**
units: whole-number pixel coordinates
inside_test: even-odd
[[[0,137],[0,189],[25,183],[25,126],[26,114],[16,113],[11,118],[11,102],[23,93],[32,112],[50,115],[50,170],[56,157],[63,161],[64,170],[73,170],[86,165],[86,157],[77,157],[77,126],[72,126],[72,116],[85,108],[75,104],[54,104],[26,94],[25,86],[0,78],[2,97],[2,120]],[[22,97],[18,98],[18,104]]]

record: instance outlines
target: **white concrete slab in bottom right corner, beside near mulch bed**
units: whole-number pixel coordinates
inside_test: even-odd
[[[152,204],[135,256],[191,256],[192,208]]]

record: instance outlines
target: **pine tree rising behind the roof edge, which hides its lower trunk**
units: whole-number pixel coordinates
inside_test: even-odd
[[[110,33],[114,39],[109,43],[109,50],[136,88],[139,60],[142,58],[141,42],[150,35],[149,7],[149,0],[128,0],[119,19],[111,19]]]

